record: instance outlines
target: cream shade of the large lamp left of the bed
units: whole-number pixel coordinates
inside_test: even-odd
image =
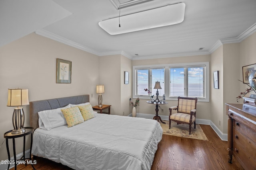
[[[8,88],[7,106],[29,105],[28,88]]]

